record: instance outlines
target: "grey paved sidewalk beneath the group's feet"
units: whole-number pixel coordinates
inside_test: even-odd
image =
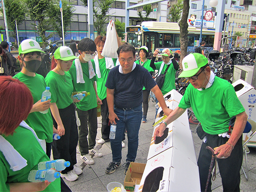
[[[137,159],[135,162],[146,163],[146,157],[148,156],[148,149],[153,134],[152,123],[154,122],[155,108],[154,103],[149,102],[147,123],[141,123],[139,133],[139,147],[137,151]],[[196,125],[191,124],[190,129],[195,130]],[[192,137],[195,146],[196,157],[201,147],[201,140],[197,134],[192,132]],[[98,134],[96,140],[101,138],[101,118],[98,118]],[[125,163],[127,154],[127,137],[125,140],[125,148],[122,149],[122,164]],[[79,148],[77,148],[77,161],[78,165],[83,169],[83,173],[79,175],[78,180],[70,182],[65,180],[67,185],[73,192],[107,192],[107,185],[110,182],[116,181],[124,183],[125,174],[122,164],[116,169],[113,174],[106,174],[105,169],[112,160],[110,142],[106,142],[103,145],[98,145],[99,151],[102,152],[103,157],[93,157],[95,163],[93,165],[86,165],[80,158]],[[241,171],[241,192],[255,192],[256,191],[256,148],[250,148],[250,154],[247,154],[249,180],[247,181]],[[243,166],[245,164],[243,163]],[[217,171],[218,172],[218,171]],[[218,174],[215,181],[212,181],[212,191],[223,191],[221,185],[221,177]]]

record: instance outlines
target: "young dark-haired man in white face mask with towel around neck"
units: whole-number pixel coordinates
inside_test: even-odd
[[[96,145],[97,104],[102,105],[96,87],[97,76],[93,56],[96,54],[96,44],[89,38],[82,39],[78,44],[79,58],[73,61],[69,73],[73,81],[74,91],[87,91],[90,95],[76,104],[77,113],[81,122],[79,126],[79,149],[81,159],[92,165],[94,160],[90,155],[102,157]],[[87,139],[87,135],[89,137]]]

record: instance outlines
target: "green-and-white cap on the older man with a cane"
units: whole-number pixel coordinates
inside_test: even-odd
[[[192,77],[201,67],[204,67],[208,63],[208,59],[200,53],[190,53],[182,60],[183,72],[179,77]]]

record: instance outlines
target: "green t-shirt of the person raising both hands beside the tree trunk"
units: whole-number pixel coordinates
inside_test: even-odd
[[[160,70],[160,67],[161,67],[162,63],[163,63],[163,61],[154,63],[155,66],[156,66],[156,69],[158,71]],[[164,64],[161,74],[163,74],[165,72],[167,67],[168,67],[168,65]],[[161,91],[162,91],[163,95],[165,95],[169,91],[175,89],[175,73],[176,73],[176,70],[173,67],[173,64],[171,63],[170,67],[167,70],[167,73],[166,73],[166,76],[165,76],[165,79],[164,79],[164,83],[163,83],[163,86],[161,88]]]

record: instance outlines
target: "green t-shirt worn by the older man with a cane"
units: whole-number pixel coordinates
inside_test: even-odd
[[[211,135],[227,132],[231,117],[244,112],[234,87],[216,76],[212,86],[201,91],[189,84],[179,107],[192,107],[203,130]]]

